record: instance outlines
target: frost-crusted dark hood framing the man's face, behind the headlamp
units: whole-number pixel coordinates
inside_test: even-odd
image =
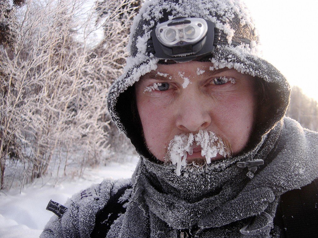
[[[234,68],[254,76],[255,80],[263,80],[265,101],[259,104],[253,144],[248,149],[255,152],[271,129],[282,121],[289,103],[290,87],[285,77],[261,58],[257,30],[245,4],[238,0],[153,0],[144,3],[131,28],[130,56],[124,74],[109,90],[111,118],[139,154],[152,157],[144,144],[133,85],[142,75],[157,68],[159,59],[149,51],[150,32],[159,23],[181,16],[200,17],[216,24],[219,37],[215,50],[206,58],[214,68]]]

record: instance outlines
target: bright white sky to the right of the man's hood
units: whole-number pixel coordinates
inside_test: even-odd
[[[318,101],[318,1],[244,2],[259,30],[263,58]]]

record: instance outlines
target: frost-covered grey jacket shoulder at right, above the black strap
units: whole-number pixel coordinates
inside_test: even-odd
[[[270,184],[275,194],[281,195],[288,190],[301,188],[317,178],[318,134],[311,132],[308,137],[307,133],[294,119],[285,117],[284,130],[280,135],[280,140],[285,142],[284,149],[276,156],[275,161],[257,175],[259,182],[253,186],[247,185],[246,189]]]

